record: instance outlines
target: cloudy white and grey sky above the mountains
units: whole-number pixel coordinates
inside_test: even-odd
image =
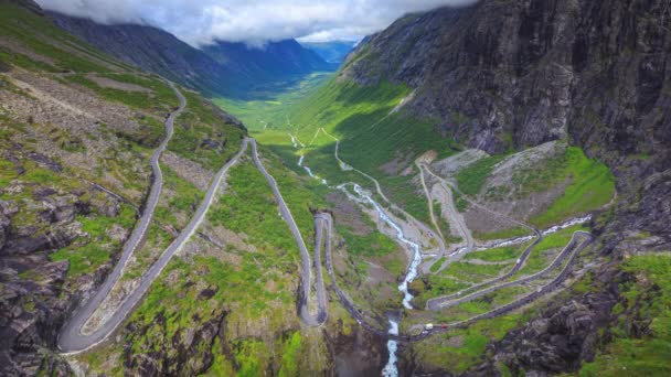
[[[300,37],[358,40],[398,17],[473,0],[36,0],[44,9],[100,23],[143,23],[192,45],[214,40],[263,44]]]

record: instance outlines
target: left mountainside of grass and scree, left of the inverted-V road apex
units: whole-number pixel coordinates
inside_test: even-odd
[[[184,226],[178,218],[246,130],[196,93],[55,26],[32,1],[0,1],[0,375],[72,375],[58,331],[145,211],[157,182],[149,158],[177,91],[187,106],[161,159],[171,198],[157,204],[149,238],[169,241]]]

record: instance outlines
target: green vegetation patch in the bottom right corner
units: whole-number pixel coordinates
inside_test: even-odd
[[[622,300],[613,314],[613,342],[585,363],[579,376],[668,376],[671,374],[671,257],[633,256],[621,269],[631,279],[620,284]],[[632,323],[645,324],[636,331]],[[633,332],[642,335],[635,335]]]

